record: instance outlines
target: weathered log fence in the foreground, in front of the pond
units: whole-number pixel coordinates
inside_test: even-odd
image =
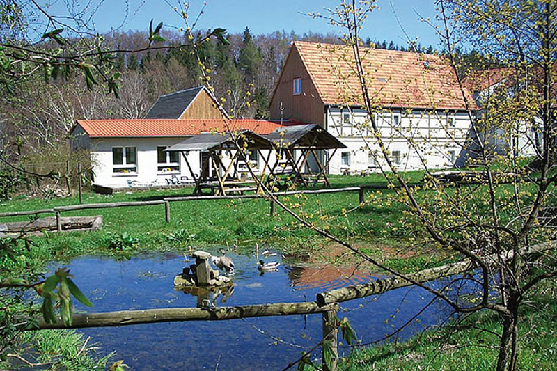
[[[519,253],[540,253],[557,247],[557,242],[548,242],[524,248]],[[490,255],[485,258],[488,264],[501,260],[512,259],[513,252],[508,251],[501,255]],[[453,276],[473,269],[471,260],[463,260],[441,267],[424,269],[414,274],[408,274],[405,278],[385,278],[361,285],[343,287],[327,292],[320,292],[312,302],[304,303],[273,303],[256,304],[250,306],[218,307],[218,308],[160,308],[149,310],[120,310],[105,313],[86,313],[72,316],[72,326],[62,322],[47,324],[42,317],[36,319],[35,329],[79,329],[86,327],[106,326],[130,326],[134,324],[156,323],[156,322],[182,322],[198,320],[226,320],[241,319],[248,317],[267,317],[280,315],[308,315],[322,313],[322,347],[325,342],[329,344],[334,352],[334,360],[327,364],[324,358],[325,350],[322,349],[322,370],[337,370],[338,366],[338,323],[336,313],[339,303],[350,301],[370,295],[382,294],[400,287],[413,285],[413,282],[426,283],[446,276]]]

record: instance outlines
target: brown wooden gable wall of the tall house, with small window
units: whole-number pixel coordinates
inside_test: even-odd
[[[292,94],[292,79],[301,77],[301,94]],[[283,113],[281,117],[281,102]],[[288,120],[295,118],[304,123],[324,125],[324,104],[301,60],[297,49],[292,46],[283,67],[281,79],[270,104],[271,118]]]

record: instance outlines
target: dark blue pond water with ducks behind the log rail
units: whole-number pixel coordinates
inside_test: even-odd
[[[216,255],[217,248],[207,250]],[[331,288],[377,279],[347,269],[295,268],[282,262],[278,271],[260,274],[254,255],[227,253],[237,267],[234,291],[214,299],[217,306],[315,301],[315,294]],[[267,258],[281,261],[281,254]],[[187,263],[187,265],[191,264]],[[68,267],[93,308],[76,303],[77,310],[105,312],[148,308],[195,307],[197,297],[175,291],[174,276],[185,267],[176,254],[140,255],[127,261],[82,257]],[[59,265],[53,264],[52,267]],[[352,274],[352,275],[351,275]],[[433,283],[436,284],[436,283]],[[437,283],[439,284],[439,283]],[[222,301],[226,303],[222,303]],[[430,294],[404,287],[375,297],[342,303],[338,317],[348,317],[362,342],[383,338],[430,302]],[[425,326],[444,322],[450,308],[435,302],[406,329],[398,340]],[[321,338],[321,315],[292,315],[232,319],[227,321],[164,322],[111,328],[81,329],[100,342],[100,352],[116,350],[132,370],[282,370],[304,349]],[[340,352],[348,352],[340,347]],[[312,354],[320,358],[320,352]]]

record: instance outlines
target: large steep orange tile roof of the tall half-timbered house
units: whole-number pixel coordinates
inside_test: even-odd
[[[344,45],[294,42],[324,104],[361,105],[352,49]],[[466,109],[455,73],[442,57],[359,48],[372,104],[384,107]],[[477,109],[464,88],[469,107]]]

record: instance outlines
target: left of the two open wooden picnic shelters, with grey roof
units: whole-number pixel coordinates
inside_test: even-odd
[[[238,150],[238,147],[242,150]],[[166,151],[182,153],[182,157],[184,157],[191,177],[195,182],[194,194],[202,194],[202,189],[208,188],[212,190],[212,193],[216,191],[217,194],[226,195],[226,192],[256,190],[255,187],[245,187],[246,184],[253,184],[253,181],[242,181],[238,178],[239,166],[242,163],[248,164],[248,161],[246,161],[248,152],[257,151],[262,158],[265,158],[260,151],[269,150],[263,168],[262,175],[264,175],[265,168],[269,163],[271,149],[272,144],[265,137],[250,130],[240,130],[225,134],[201,133],[171,145],[166,148]],[[187,159],[187,152],[189,151],[200,151],[202,158],[205,158],[205,161],[202,161],[201,164],[199,177],[196,177]],[[228,152],[228,157],[230,157],[228,166],[223,164],[223,152]],[[206,154],[205,157],[203,157],[203,154]]]

